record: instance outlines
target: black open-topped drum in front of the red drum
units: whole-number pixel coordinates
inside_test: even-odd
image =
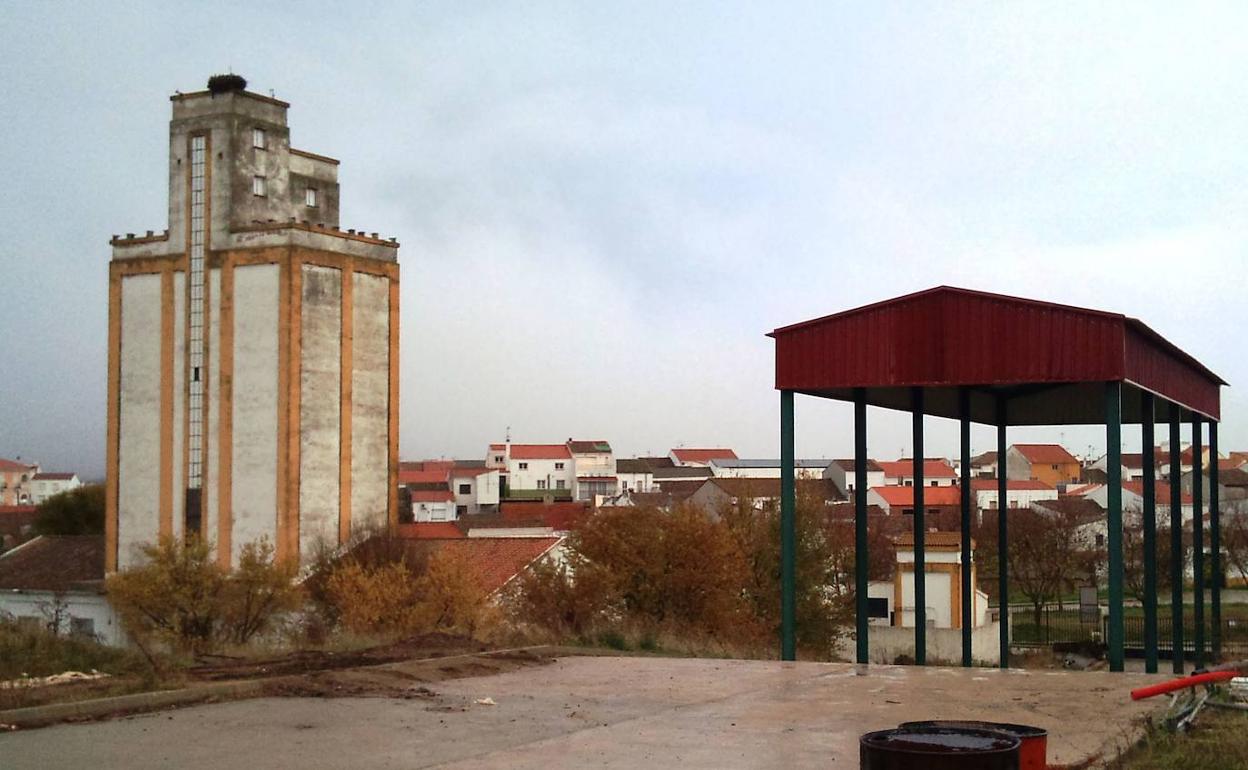
[[[1018,770],[1017,736],[975,728],[896,728],[859,739],[862,770]]]

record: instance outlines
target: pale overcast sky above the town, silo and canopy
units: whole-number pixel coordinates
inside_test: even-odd
[[[764,333],[941,283],[1142,318],[1248,446],[1248,6],[0,6],[0,457],[102,474],[107,240],[166,226],[167,96],[227,67],[403,245],[404,458],[775,456]],[[797,401],[799,454],[850,453]]]

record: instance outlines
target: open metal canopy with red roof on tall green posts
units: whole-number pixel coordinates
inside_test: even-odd
[[[775,387],[780,391],[781,457],[781,656],[795,649],[795,484],[792,398],[796,393],[854,402],[857,659],[867,663],[866,602],[866,407],[914,414],[914,457],[924,457],[925,416],[961,421],[962,664],[971,665],[970,592],[970,424],[997,427],[998,553],[1008,553],[1006,504],[1006,429],[1008,426],[1103,424],[1108,446],[1108,588],[1109,665],[1123,668],[1122,621],[1122,423],[1139,423],[1144,467],[1153,467],[1153,424],[1169,424],[1171,467],[1181,468],[1181,423],[1191,426],[1194,488],[1199,488],[1203,428],[1216,447],[1221,419],[1219,388],[1227,384],[1196,358],[1143,322],[1096,309],[941,286],[874,305],[775,329]],[[922,463],[915,463],[915,660],[926,658],[925,505]],[[1217,494],[1217,462],[1211,483]],[[1151,480],[1151,479],[1149,479]],[[1176,479],[1177,482],[1177,479]],[[1172,484],[1177,498],[1178,484]],[[1148,669],[1156,670],[1157,602],[1156,494],[1144,495],[1144,625]],[[1197,497],[1197,500],[1199,498]],[[1217,502],[1211,502],[1211,545],[1218,543]],[[1179,500],[1172,499],[1172,524],[1179,524]],[[1197,503],[1199,505],[1199,503]],[[1172,529],[1179,534],[1179,527]],[[1199,548],[1203,517],[1193,519],[1194,574],[1204,574]],[[1181,574],[1182,542],[1172,544],[1172,573]],[[1219,553],[1212,552],[1213,574],[1221,574]],[[1008,597],[1006,560],[998,569],[998,595]],[[1212,589],[1214,619],[1221,616],[1219,580]],[[1174,592],[1174,669],[1182,671],[1182,600]],[[1203,580],[1194,585],[1194,609],[1203,614]],[[900,610],[900,608],[899,608]],[[1203,661],[1203,625],[1197,624],[1196,660]],[[1217,629],[1217,625],[1214,625]],[[1213,635],[1214,654],[1218,635]],[[1001,665],[1008,665],[1008,613],[1001,613]]]

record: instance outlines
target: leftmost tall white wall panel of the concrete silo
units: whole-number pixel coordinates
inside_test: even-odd
[[[121,281],[121,393],[117,446],[117,565],[160,532],[160,282]]]

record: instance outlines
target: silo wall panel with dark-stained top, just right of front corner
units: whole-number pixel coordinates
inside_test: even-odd
[[[300,554],[338,542],[342,271],[305,266],[300,371]]]

